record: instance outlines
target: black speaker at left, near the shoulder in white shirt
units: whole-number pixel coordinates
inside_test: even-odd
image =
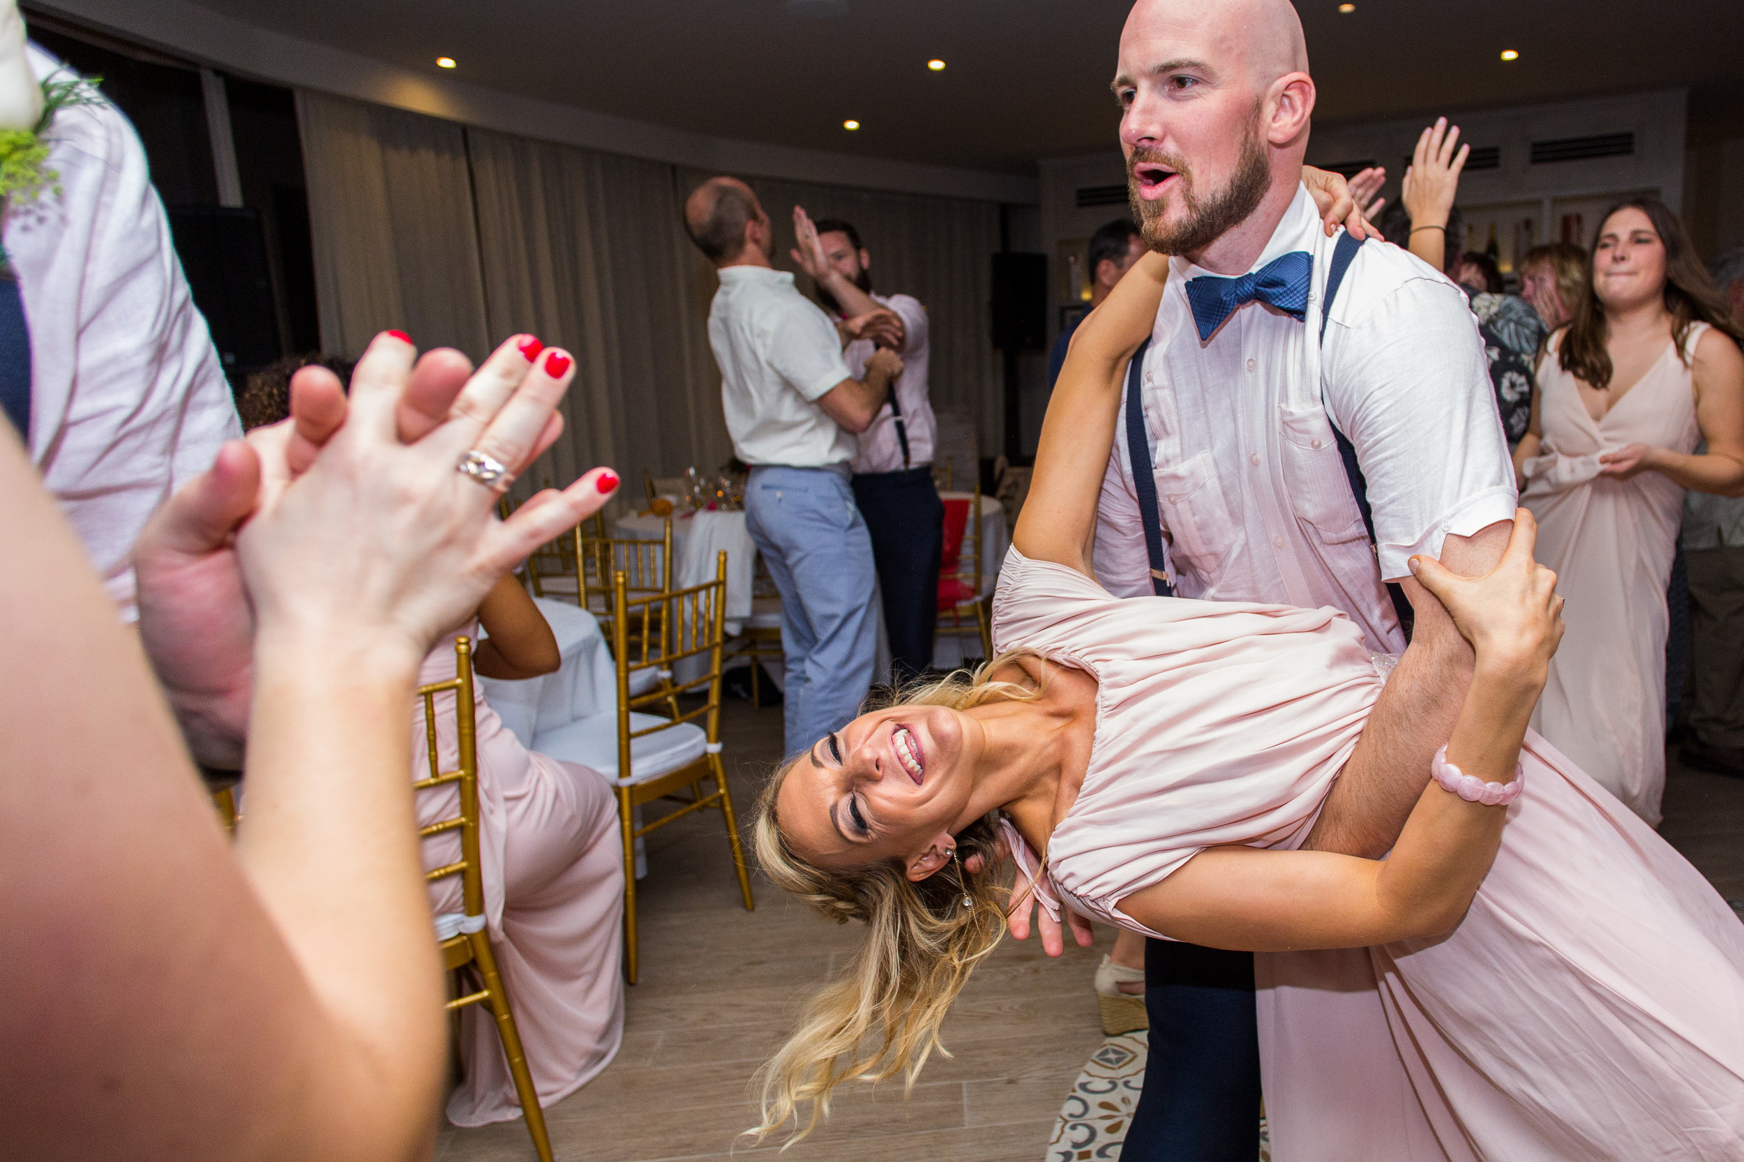
[[[171,206],[169,232],[225,375],[235,382],[283,356],[260,213],[246,206]]]

